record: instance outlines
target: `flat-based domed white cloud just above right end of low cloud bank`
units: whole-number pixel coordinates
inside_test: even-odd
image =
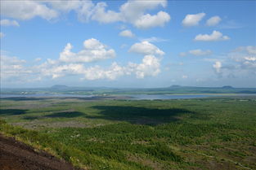
[[[159,54],[164,55],[164,51],[159,50],[159,48],[148,41],[141,41],[133,44],[129,52],[134,52],[138,54]]]

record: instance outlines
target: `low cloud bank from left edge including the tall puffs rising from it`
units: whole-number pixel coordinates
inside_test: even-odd
[[[155,54],[159,53],[155,47]],[[71,51],[70,43],[65,46],[59,59],[47,59],[43,63],[40,58],[34,59],[34,65],[26,66],[25,60],[17,57],[1,55],[1,78],[4,81],[41,81],[43,78],[51,77],[57,79],[65,76],[80,76],[84,80],[107,79],[115,80],[120,76],[134,75],[137,78],[146,76],[157,76],[160,72],[160,59],[154,54],[146,54],[141,63],[129,62],[120,65],[113,62],[110,67],[100,65],[87,66],[85,63],[97,61],[99,59],[110,59],[114,56],[115,50],[106,50],[106,45],[92,38],[83,42],[83,50],[78,53]],[[163,52],[163,51],[162,51]],[[28,64],[31,65],[31,64]]]

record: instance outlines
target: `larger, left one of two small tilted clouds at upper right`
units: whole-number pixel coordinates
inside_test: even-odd
[[[204,15],[205,13],[203,12],[198,14],[188,14],[184,20],[182,20],[182,24],[186,27],[196,26],[199,24],[200,20],[204,18]]]

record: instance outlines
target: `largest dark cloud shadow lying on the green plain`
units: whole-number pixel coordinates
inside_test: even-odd
[[[181,108],[151,109],[145,107],[96,106],[99,116],[85,116],[88,119],[123,120],[132,124],[157,125],[180,120],[182,114],[195,114]]]

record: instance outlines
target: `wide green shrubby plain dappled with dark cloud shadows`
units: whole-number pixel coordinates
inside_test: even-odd
[[[252,97],[2,99],[0,118],[2,133],[87,169],[256,168]]]

